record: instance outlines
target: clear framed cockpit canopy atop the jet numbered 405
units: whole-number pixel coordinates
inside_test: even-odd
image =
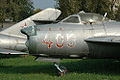
[[[70,15],[67,18],[63,19],[61,23],[100,23],[103,21],[103,16],[96,13],[79,13],[76,15]]]

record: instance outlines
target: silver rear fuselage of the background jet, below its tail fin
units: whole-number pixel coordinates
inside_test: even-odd
[[[26,42],[25,38],[18,38],[18,37],[7,36],[2,34],[0,35],[0,48],[2,49],[27,51],[25,42]]]

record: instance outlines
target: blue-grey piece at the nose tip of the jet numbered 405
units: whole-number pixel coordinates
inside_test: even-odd
[[[34,26],[29,26],[26,28],[21,29],[21,33],[29,36],[34,36],[36,34],[35,27]]]

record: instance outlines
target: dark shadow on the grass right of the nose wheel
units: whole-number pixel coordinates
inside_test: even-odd
[[[120,62],[110,59],[89,59],[63,63],[70,72],[120,75]]]

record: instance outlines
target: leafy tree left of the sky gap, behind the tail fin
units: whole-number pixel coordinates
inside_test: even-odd
[[[0,21],[5,20],[5,18],[20,21],[30,16],[32,10],[31,0],[0,0]]]

